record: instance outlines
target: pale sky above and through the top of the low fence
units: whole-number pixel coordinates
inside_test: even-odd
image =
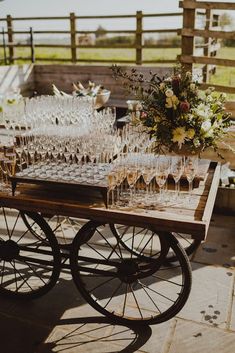
[[[214,0],[219,1],[219,0]],[[234,2],[234,0],[227,0]],[[144,13],[180,12],[178,0],[4,0],[0,2],[0,17],[7,14],[13,17],[30,16],[68,16],[75,12],[77,16],[134,14],[137,10]],[[144,22],[144,29],[180,28],[180,17],[155,17]],[[106,29],[134,29],[134,19],[125,20],[81,20],[77,21],[79,30],[95,30],[98,25]],[[3,22],[0,23],[3,26]],[[16,25],[15,25],[16,26]],[[17,22],[17,29],[42,29],[42,22]],[[44,29],[69,29],[68,21],[44,21]]]

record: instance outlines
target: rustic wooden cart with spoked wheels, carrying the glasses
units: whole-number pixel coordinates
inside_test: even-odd
[[[191,235],[188,253],[205,239],[219,171],[210,164],[187,207],[107,209],[95,191],[28,184],[17,186],[15,196],[2,193],[0,294],[39,297],[61,268],[70,268],[85,300],[111,319],[155,324],[172,318],[191,288],[190,263],[176,235]],[[66,242],[63,226],[70,232]]]

